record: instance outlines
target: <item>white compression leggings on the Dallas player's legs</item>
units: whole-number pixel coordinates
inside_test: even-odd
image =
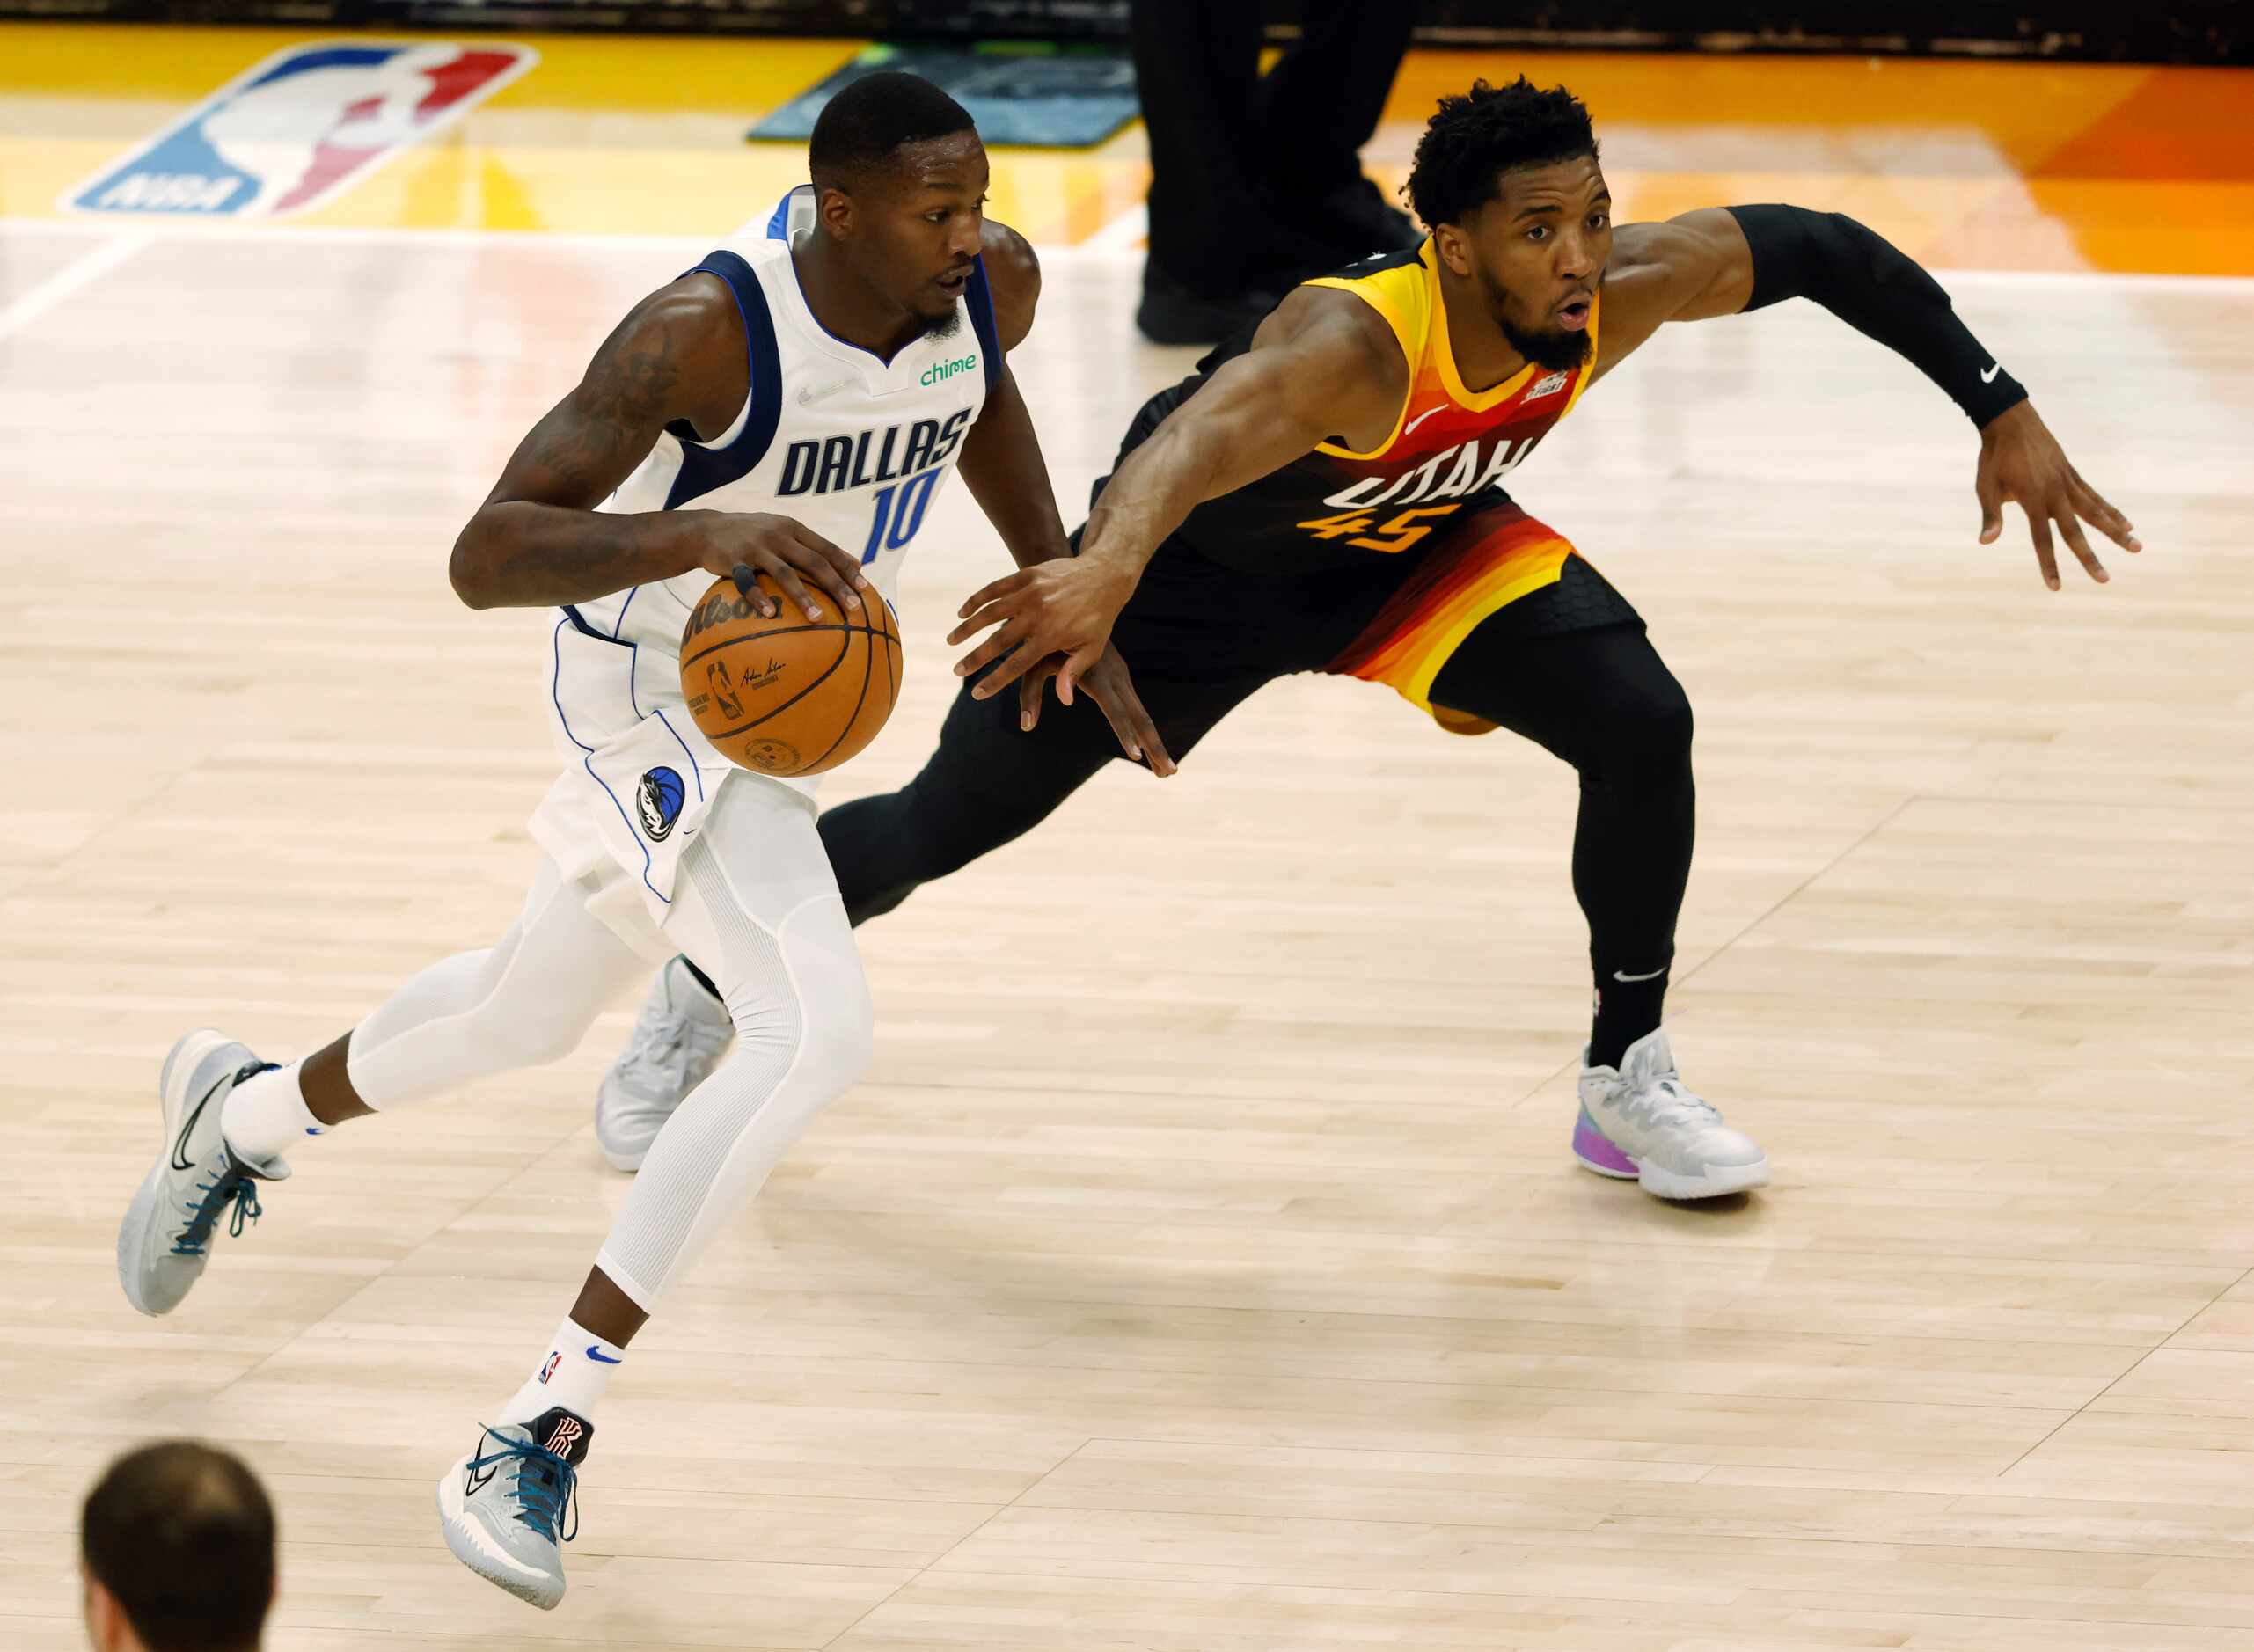
[[[649,962],[541,859],[525,908],[489,951],[431,965],[354,1032],[347,1075],[374,1109],[561,1059]],[[836,877],[798,798],[730,784],[681,856],[663,935],[721,992],[735,1050],[667,1120],[597,1267],[642,1312],[766,1181],[870,1053],[868,983]]]

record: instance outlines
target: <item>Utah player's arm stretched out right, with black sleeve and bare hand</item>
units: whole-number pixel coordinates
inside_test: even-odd
[[[2004,532],[2004,500],[2026,512],[2042,579],[2058,590],[2051,525],[2092,579],[2105,566],[2087,521],[2123,550],[2144,550],[2130,523],[2080,478],[2035,415],[2026,390],[1981,349],[1950,295],[1884,237],[1839,212],[1751,205],[1623,225],[1605,275],[1598,376],[1670,320],[1704,320],[1808,297],[1911,361],[1979,428],[1979,541]]]

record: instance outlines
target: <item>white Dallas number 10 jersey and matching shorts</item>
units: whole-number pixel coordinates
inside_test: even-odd
[[[791,237],[811,221],[814,192],[793,189],[764,225],[696,266],[735,293],[751,392],[710,442],[669,426],[600,509],[791,516],[857,552],[890,602],[908,541],[1001,376],[994,300],[980,261],[956,300],[956,329],[881,361],[829,334],[807,307]],[[566,773],[532,834],[570,877],[602,859],[618,863],[658,908],[719,784],[739,778],[814,796],[811,780],[737,769],[687,717],[681,629],[710,586],[712,575],[694,570],[566,606],[543,663]]]

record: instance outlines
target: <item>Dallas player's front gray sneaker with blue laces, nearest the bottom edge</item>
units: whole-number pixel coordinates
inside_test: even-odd
[[[437,1483],[453,1557],[552,1611],[564,1600],[564,1544],[579,1535],[579,1465],[593,1438],[595,1424],[564,1406],[485,1429],[478,1449]]]

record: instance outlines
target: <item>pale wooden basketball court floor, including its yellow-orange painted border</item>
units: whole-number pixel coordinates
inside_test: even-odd
[[[507,926],[548,622],[460,609],[446,550],[791,162],[498,223],[573,146],[633,201],[636,142],[642,178],[717,142],[656,92],[600,135],[536,72],[325,223],[72,221],[275,36],[79,36],[115,45],[74,92],[59,34],[0,32],[0,104],[65,133],[0,146],[5,1645],[83,1643],[79,1496],[167,1433],[275,1490],[277,1652],[2254,1645],[2249,178],[2164,144],[2121,178],[2103,135],[2209,79],[1700,63],[1688,108],[1681,61],[1526,65],[1616,88],[1623,216],[1801,198],[1959,270],[2150,548],[2049,595],[2015,514],[1977,545],[1970,426],[1808,307],[1675,329],[1512,478],[1697,705],[1670,1023],[1767,1192],[1663,1206],[1567,1154],[1571,775],[1280,683],[861,931],[875,1071],[636,1341],[541,1616],[431,1487],[624,1192],[591,1104],[631,1003],[309,1145],[169,1321],[113,1237],[178,1032],[302,1053]],[[595,50],[629,47],[550,63]],[[1379,169],[1434,86],[1515,68],[1416,59]],[[2022,74],[2080,88],[2049,149],[2060,81]],[[1068,516],[1195,356],[1132,334],[1132,142],[999,160],[1050,248],[1014,365]],[[1003,566],[947,489],[834,798],[920,766],[947,615]]]

